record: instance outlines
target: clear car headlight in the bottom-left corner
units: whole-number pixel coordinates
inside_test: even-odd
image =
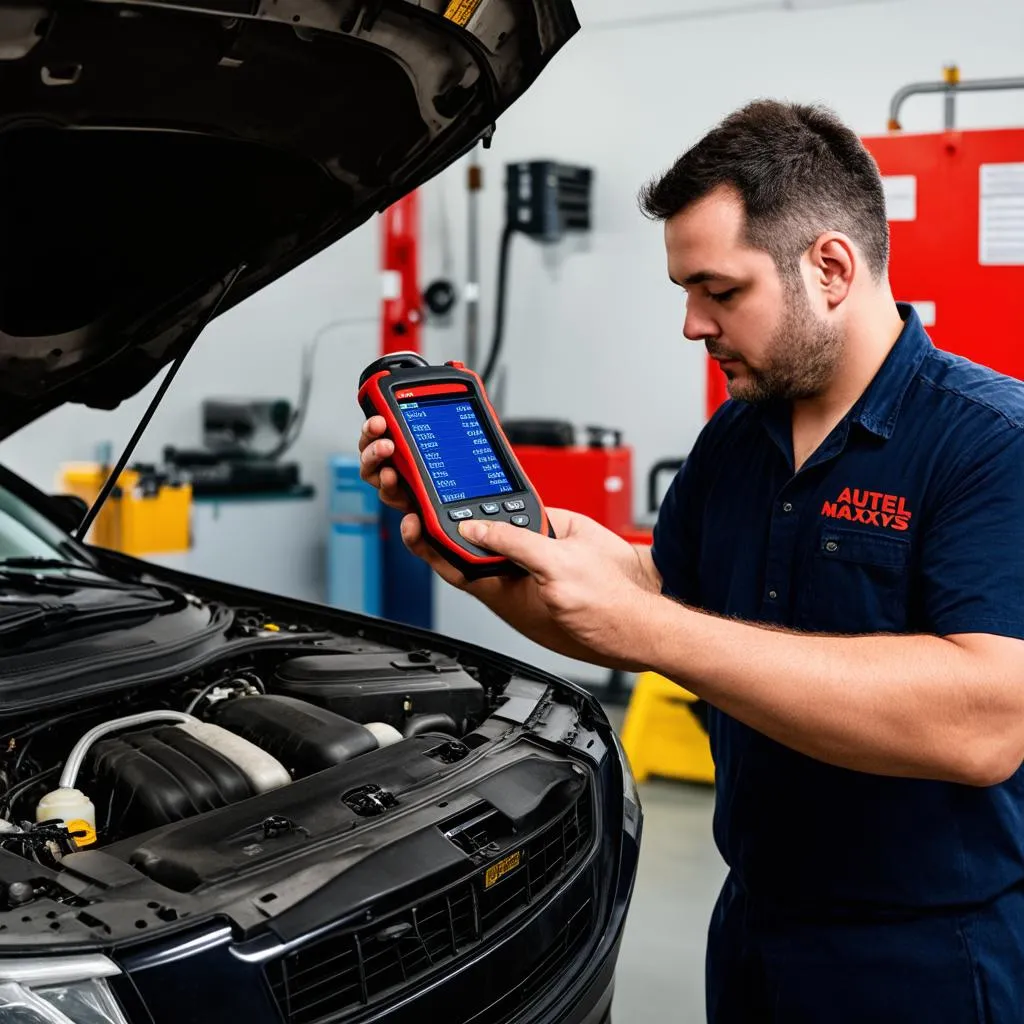
[[[128,1024],[105,956],[0,961],[0,1024]]]

